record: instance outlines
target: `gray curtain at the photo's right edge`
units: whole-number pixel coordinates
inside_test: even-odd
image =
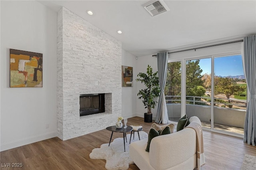
[[[244,121],[244,142],[256,146],[256,35],[244,37],[244,74],[250,92],[246,116]]]

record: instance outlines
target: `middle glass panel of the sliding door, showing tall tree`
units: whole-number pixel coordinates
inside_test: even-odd
[[[211,58],[186,61],[186,114],[211,128]]]

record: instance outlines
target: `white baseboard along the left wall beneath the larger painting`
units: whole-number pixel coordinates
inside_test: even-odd
[[[38,141],[43,141],[43,140],[50,139],[50,138],[53,138],[53,137],[57,137],[57,131],[53,131],[53,132],[45,133],[45,134],[42,134],[42,135],[36,135],[36,136],[33,136],[33,137],[28,137],[28,138],[20,139],[20,140],[17,140],[17,141],[12,141],[12,142],[9,142],[9,143],[1,144],[0,145],[0,151],[13,149],[13,148],[16,148],[16,147],[20,147],[20,146],[23,146],[23,145],[28,145],[30,143],[35,143],[35,142],[38,142]]]

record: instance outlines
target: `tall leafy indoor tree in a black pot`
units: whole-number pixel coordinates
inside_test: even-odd
[[[151,109],[156,106],[155,98],[160,95],[159,79],[156,75],[157,72],[153,73],[151,66],[148,65],[147,72],[140,72],[136,79],[137,82],[144,83],[146,86],[145,89],[138,92],[137,96],[139,96],[138,99],[142,99],[145,109],[148,108],[148,112],[144,113],[144,122],[148,123],[152,122]]]

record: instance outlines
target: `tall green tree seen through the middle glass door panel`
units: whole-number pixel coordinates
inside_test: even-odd
[[[203,86],[202,69],[199,66],[200,60],[186,61],[186,96],[199,96],[194,89]]]

